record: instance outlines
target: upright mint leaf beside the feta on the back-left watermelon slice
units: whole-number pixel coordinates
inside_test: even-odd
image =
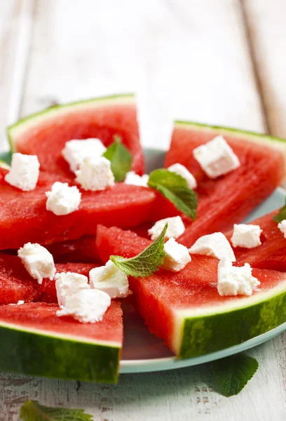
[[[120,136],[114,136],[114,143],[107,148],[103,156],[111,162],[111,171],[114,173],[115,181],[123,181],[131,169],[132,155],[122,145]]]

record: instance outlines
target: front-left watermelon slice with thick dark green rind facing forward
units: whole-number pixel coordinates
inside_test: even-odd
[[[120,302],[101,322],[57,317],[44,302],[0,306],[0,369],[57,379],[114,383],[123,341]]]

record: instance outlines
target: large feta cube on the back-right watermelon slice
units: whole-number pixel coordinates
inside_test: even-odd
[[[222,136],[193,149],[193,156],[210,178],[230,173],[240,166],[238,156]]]

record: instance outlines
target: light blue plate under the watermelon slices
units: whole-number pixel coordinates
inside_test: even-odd
[[[147,172],[155,168],[162,168],[165,152],[159,151],[158,149],[145,149],[144,153],[147,162]],[[9,162],[10,155],[0,154],[1,159]],[[280,208],[285,203],[285,196],[286,191],[278,187],[264,203],[254,209],[248,218],[246,218],[245,222],[249,222],[271,212],[271,210]],[[144,325],[144,321],[142,321],[131,305],[123,303],[123,314],[124,345],[120,366],[121,373],[144,373],[148,371],[172,370],[173,368],[196,366],[197,364],[221,359],[256,347],[286,330],[286,323],[283,323],[263,335],[259,335],[234,347],[191,359],[179,360],[170,352],[160,338],[149,332]]]

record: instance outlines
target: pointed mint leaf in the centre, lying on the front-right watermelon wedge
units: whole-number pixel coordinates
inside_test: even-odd
[[[128,276],[144,278],[154,274],[163,264],[165,257],[164,237],[167,227],[168,224],[165,225],[158,238],[134,258],[125,259],[121,256],[110,256],[109,259]]]

